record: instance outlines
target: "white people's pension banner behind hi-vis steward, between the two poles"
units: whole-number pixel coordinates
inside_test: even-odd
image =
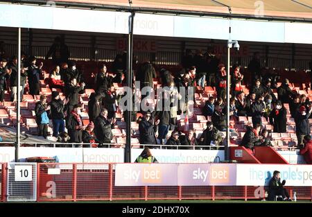
[[[143,149],[131,150],[131,162],[141,154]],[[162,164],[167,163],[220,163],[224,161],[224,150],[174,150],[152,149],[152,155]]]

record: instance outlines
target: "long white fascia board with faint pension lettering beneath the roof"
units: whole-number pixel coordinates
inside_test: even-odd
[[[128,34],[128,12],[0,6],[0,26]],[[228,19],[137,13],[134,34],[228,40],[228,28]],[[312,44],[310,35],[312,24],[232,19],[232,40]]]

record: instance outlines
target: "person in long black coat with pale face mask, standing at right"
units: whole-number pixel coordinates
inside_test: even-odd
[[[286,132],[287,118],[286,108],[281,101],[277,101],[271,116],[274,122],[274,132]]]

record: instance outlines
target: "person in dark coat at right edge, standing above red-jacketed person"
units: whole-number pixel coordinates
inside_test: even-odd
[[[309,116],[311,114],[312,105],[310,104],[308,109],[302,105],[295,116],[296,134],[298,139],[298,146],[303,144],[304,136],[310,135],[310,123]]]

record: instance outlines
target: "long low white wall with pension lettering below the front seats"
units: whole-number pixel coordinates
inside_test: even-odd
[[[143,149],[132,148],[131,162],[135,162]],[[295,151],[279,151],[290,164],[305,164],[302,155]],[[160,163],[220,163],[224,161],[224,150],[174,150],[153,149]],[[123,148],[34,148],[20,147],[19,161],[26,157],[55,157],[60,163],[123,163]],[[15,148],[0,147],[0,162],[14,162]]]

